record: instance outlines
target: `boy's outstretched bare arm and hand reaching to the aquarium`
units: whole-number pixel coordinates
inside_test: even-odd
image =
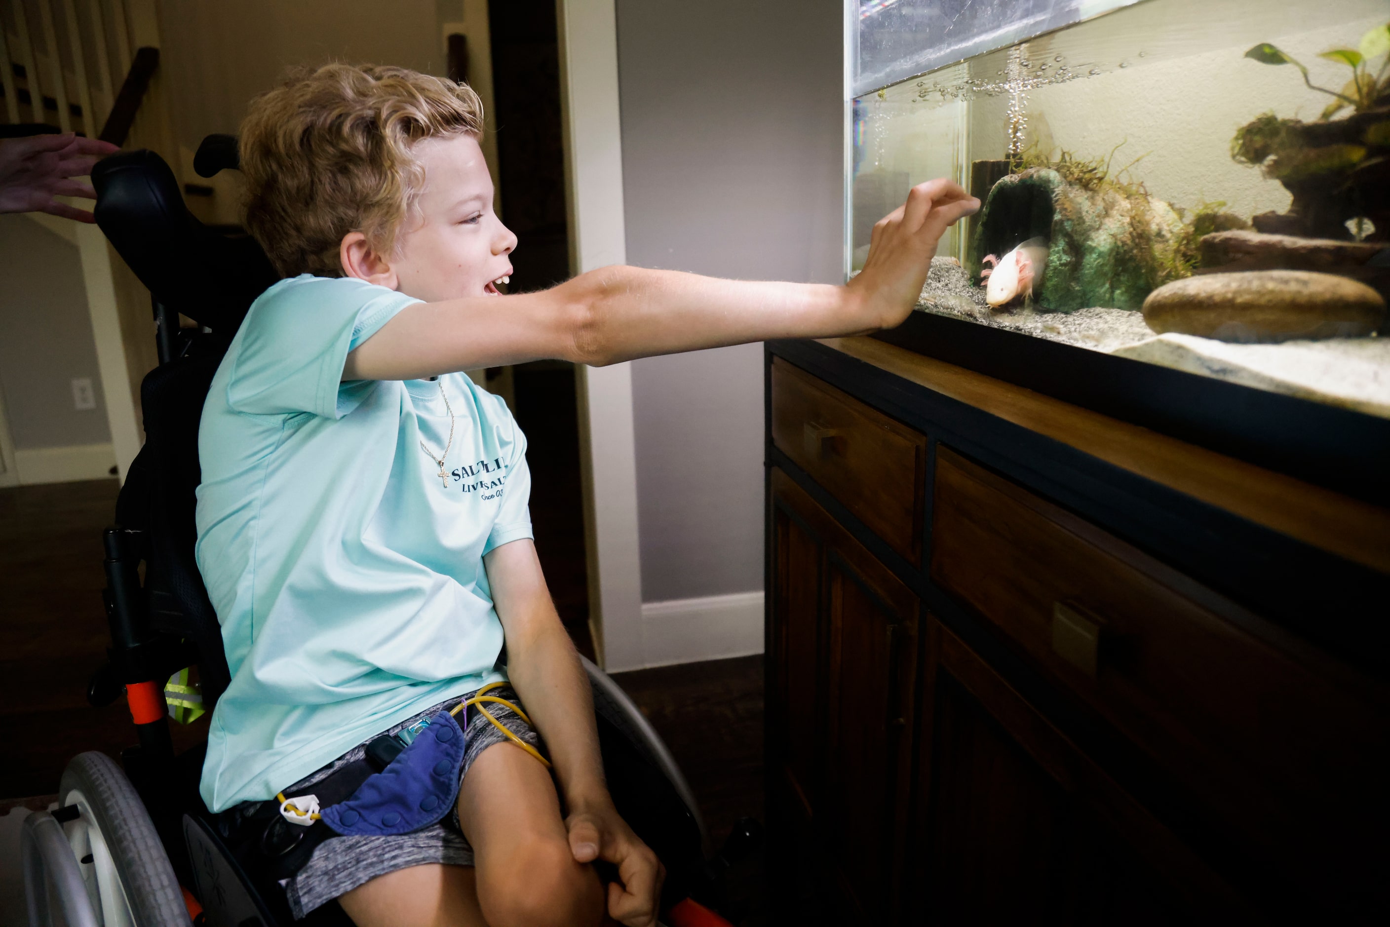
[[[605,267],[537,293],[410,306],[348,356],[343,379],[414,379],[543,357],[603,366],[769,338],[891,328],[912,311],[945,229],[980,208],[948,181],[874,225],[844,286]]]

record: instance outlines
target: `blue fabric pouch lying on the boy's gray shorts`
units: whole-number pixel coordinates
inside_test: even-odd
[[[463,728],[448,712],[345,802],[322,810],[329,830],[357,837],[410,834],[449,813],[459,796]]]

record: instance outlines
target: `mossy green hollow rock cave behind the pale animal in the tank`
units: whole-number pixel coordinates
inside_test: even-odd
[[[1002,257],[1031,238],[1047,239],[1047,267],[1033,288],[1040,311],[1137,311],[1155,288],[1187,275],[1180,260],[1187,227],[1138,185],[1079,183],[1052,168],[1027,168],[994,185],[976,229],[976,278],[986,254]]]

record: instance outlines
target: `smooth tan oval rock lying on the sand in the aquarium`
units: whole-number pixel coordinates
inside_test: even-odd
[[[1311,271],[1188,277],[1144,300],[1144,322],[1161,335],[1244,343],[1362,338],[1384,315],[1384,299],[1365,284]]]

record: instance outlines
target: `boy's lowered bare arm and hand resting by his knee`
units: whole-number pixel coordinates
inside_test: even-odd
[[[666,871],[613,807],[589,680],[550,600],[535,545],[505,543],[484,557],[484,566],[506,632],[507,677],[555,766],[570,851],[581,863],[605,859],[617,867],[621,884],[607,888],[614,920],[655,924]]]

